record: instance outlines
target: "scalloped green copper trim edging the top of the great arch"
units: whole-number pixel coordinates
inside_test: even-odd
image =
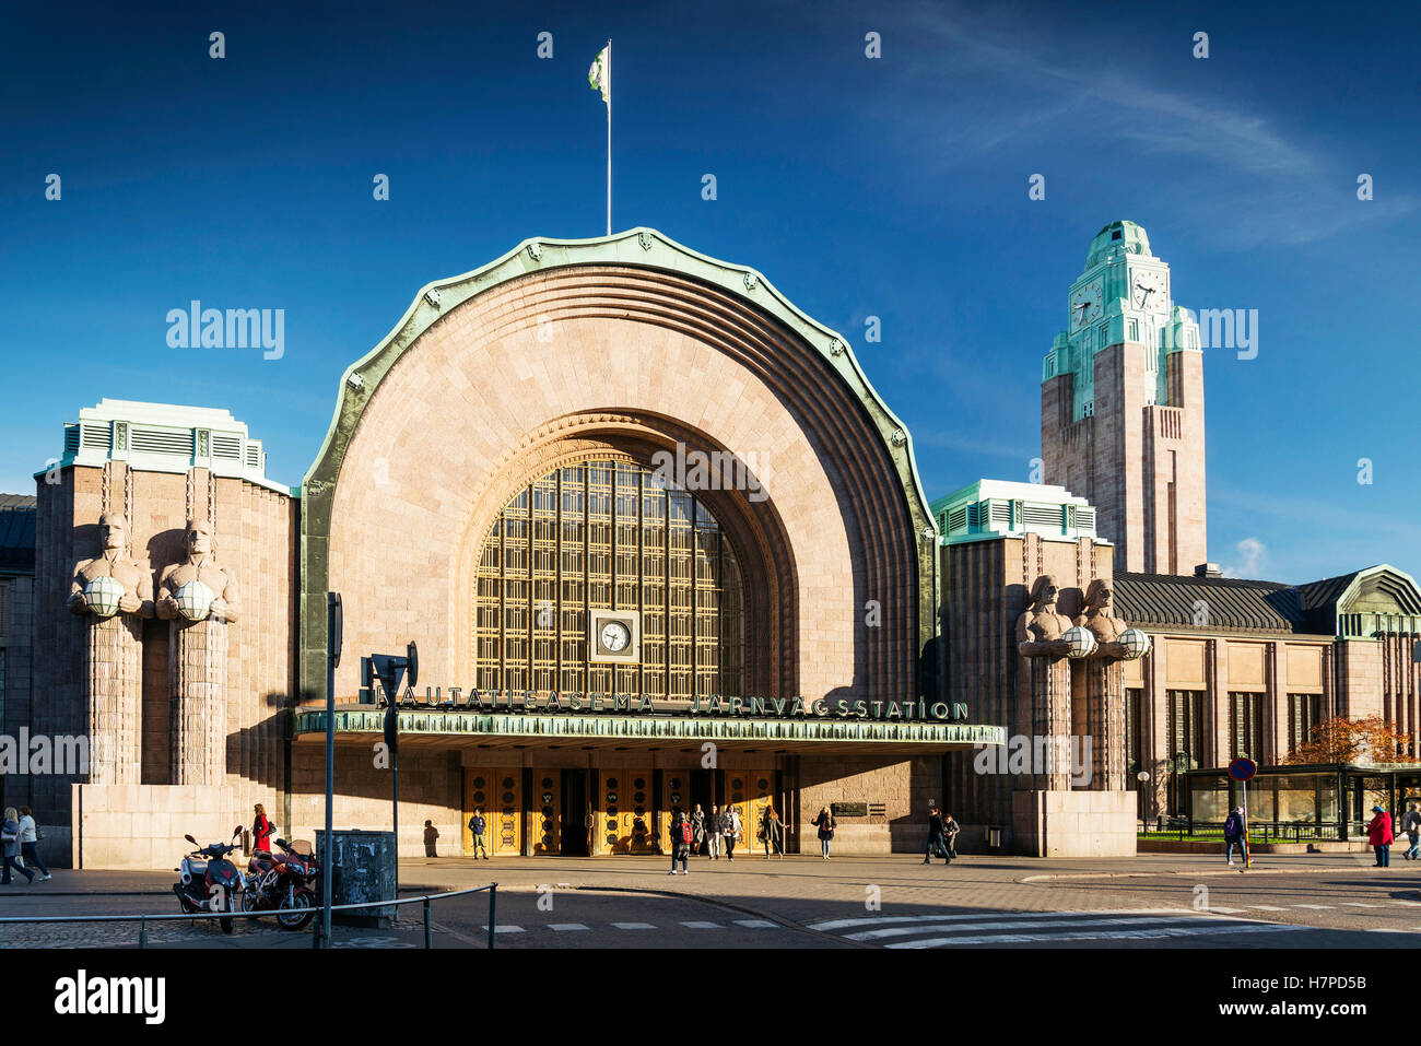
[[[902,486],[918,541],[919,649],[936,637],[934,551],[936,523],[928,509],[912,453],[912,436],[864,375],[848,338],[810,318],[760,273],[719,262],[685,247],[655,229],[628,229],[588,240],[529,239],[500,259],[463,276],[421,289],[395,328],[369,352],[345,368],[330,429],[301,483],[301,654],[300,692],[311,696],[325,685],[325,591],[331,524],[331,493],[360,418],[395,361],[438,320],[465,301],[529,273],[570,266],[627,266],[678,273],[710,284],[752,304],[814,347],[830,370],[854,392],[877,428]]]

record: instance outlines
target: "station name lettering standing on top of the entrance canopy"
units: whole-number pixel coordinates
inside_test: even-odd
[[[361,689],[361,703],[384,703],[385,689]],[[887,719],[902,722],[966,722],[968,706],[945,701],[867,701],[848,698],[729,698],[719,694],[689,702],[659,703],[632,694],[534,694],[533,691],[465,691],[462,686],[426,686],[423,696],[409,688],[401,706],[460,712],[556,712],[584,715],[723,716],[728,719]]]

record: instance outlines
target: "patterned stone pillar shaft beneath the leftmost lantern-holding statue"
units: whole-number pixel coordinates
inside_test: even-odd
[[[91,784],[141,780],[142,620],[134,614],[88,620],[88,743]]]

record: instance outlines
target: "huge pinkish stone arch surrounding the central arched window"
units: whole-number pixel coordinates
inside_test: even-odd
[[[510,492],[590,448],[645,460],[678,442],[752,462],[767,495],[710,505],[752,553],[755,689],[917,694],[921,506],[863,397],[786,324],[681,273],[567,264],[495,283],[399,340],[378,384],[342,399],[342,445],[328,438],[307,478],[304,557],[327,541],[321,591],[345,605],[337,694],[358,686],[357,654],[408,640],[422,682],[468,685],[470,571]]]

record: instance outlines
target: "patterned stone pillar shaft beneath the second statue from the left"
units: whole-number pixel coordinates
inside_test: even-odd
[[[223,784],[227,772],[227,622],[169,625],[172,783]]]

